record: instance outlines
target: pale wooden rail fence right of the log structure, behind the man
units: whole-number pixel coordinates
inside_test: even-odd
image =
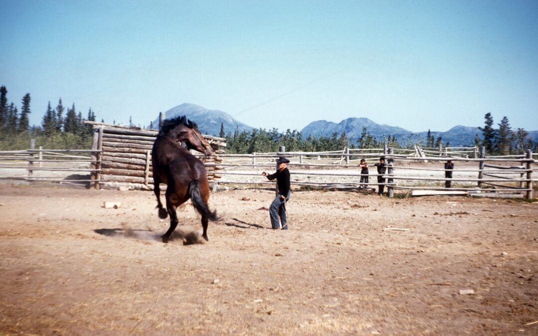
[[[219,155],[222,162],[218,164],[223,167],[218,170],[223,178],[218,183],[274,184],[261,178],[260,173],[274,170],[275,159],[285,155],[291,160],[288,168],[292,184],[299,186],[371,190],[384,184],[389,197],[394,195],[394,190],[402,190],[414,195],[472,194],[532,198],[534,160],[530,150],[525,155],[486,157],[482,149],[478,158],[469,158],[468,154],[462,152],[440,151],[436,156],[417,156],[416,151],[400,149],[396,153],[393,148],[376,148],[315,153],[285,152],[281,149],[277,153],[223,154]],[[367,162],[375,162],[381,156],[388,163],[386,174],[383,174],[386,181],[378,183],[379,174],[375,167],[370,166],[367,174],[369,182],[360,183],[360,177],[366,174],[360,174],[356,161],[364,158]],[[448,159],[456,162],[456,167],[462,164],[459,165],[462,168],[452,170],[452,178],[444,177],[444,167],[438,168]],[[430,167],[424,166],[426,163]],[[445,181],[451,181],[453,187],[445,188]]]

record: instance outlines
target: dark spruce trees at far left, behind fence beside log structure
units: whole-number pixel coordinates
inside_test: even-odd
[[[6,87],[0,87],[0,150],[28,149],[30,139],[36,140],[36,147],[46,149],[91,148],[92,127],[83,123],[84,120],[95,121],[91,108],[86,118],[82,118],[82,112],[76,112],[74,103],[65,108],[60,98],[54,109],[48,102],[41,125],[30,126],[30,103],[28,93],[22,98],[19,112],[15,103],[8,102]]]

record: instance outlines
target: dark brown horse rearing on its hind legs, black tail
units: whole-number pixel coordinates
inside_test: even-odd
[[[207,181],[206,167],[198,158],[181,146],[178,141],[185,142],[188,149],[195,149],[206,155],[213,154],[213,149],[207,140],[202,137],[195,123],[186,116],[165,120],[157,139],[153,143],[153,191],[157,196],[159,217],[170,215],[170,227],[161,236],[167,242],[176,226],[178,215],[176,209],[179,205],[192,199],[194,208],[202,215],[203,238],[207,238],[208,219],[220,220],[216,211],[210,211],[207,201],[209,199],[209,183]],[[160,183],[167,184],[166,210],[162,208],[160,199]]]

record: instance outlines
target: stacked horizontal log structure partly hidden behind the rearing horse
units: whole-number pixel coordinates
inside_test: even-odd
[[[153,189],[153,173],[151,167],[151,149],[157,136],[157,130],[142,130],[139,127],[110,125],[86,121],[94,127],[94,149],[101,149],[97,154],[96,169],[100,172],[92,176],[96,181],[95,188],[103,185],[121,187],[126,184],[129,189]],[[216,152],[222,152],[226,146],[223,138],[203,135]],[[200,154],[194,152],[193,154]],[[217,156],[199,156],[203,162],[212,163],[206,166],[208,180],[216,180],[221,176],[214,171],[219,169],[215,164],[221,162]]]

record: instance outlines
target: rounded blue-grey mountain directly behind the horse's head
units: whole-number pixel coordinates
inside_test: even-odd
[[[239,133],[243,131],[251,132],[253,128],[233,119],[228,113],[219,110],[208,110],[195,104],[184,103],[165,112],[166,119],[183,115],[187,116],[189,120],[194,121],[202,134],[215,135],[217,137],[221,131],[221,123],[224,125],[225,134],[233,134],[236,128],[239,130]],[[159,117],[153,120],[152,124],[153,128],[158,128]]]

